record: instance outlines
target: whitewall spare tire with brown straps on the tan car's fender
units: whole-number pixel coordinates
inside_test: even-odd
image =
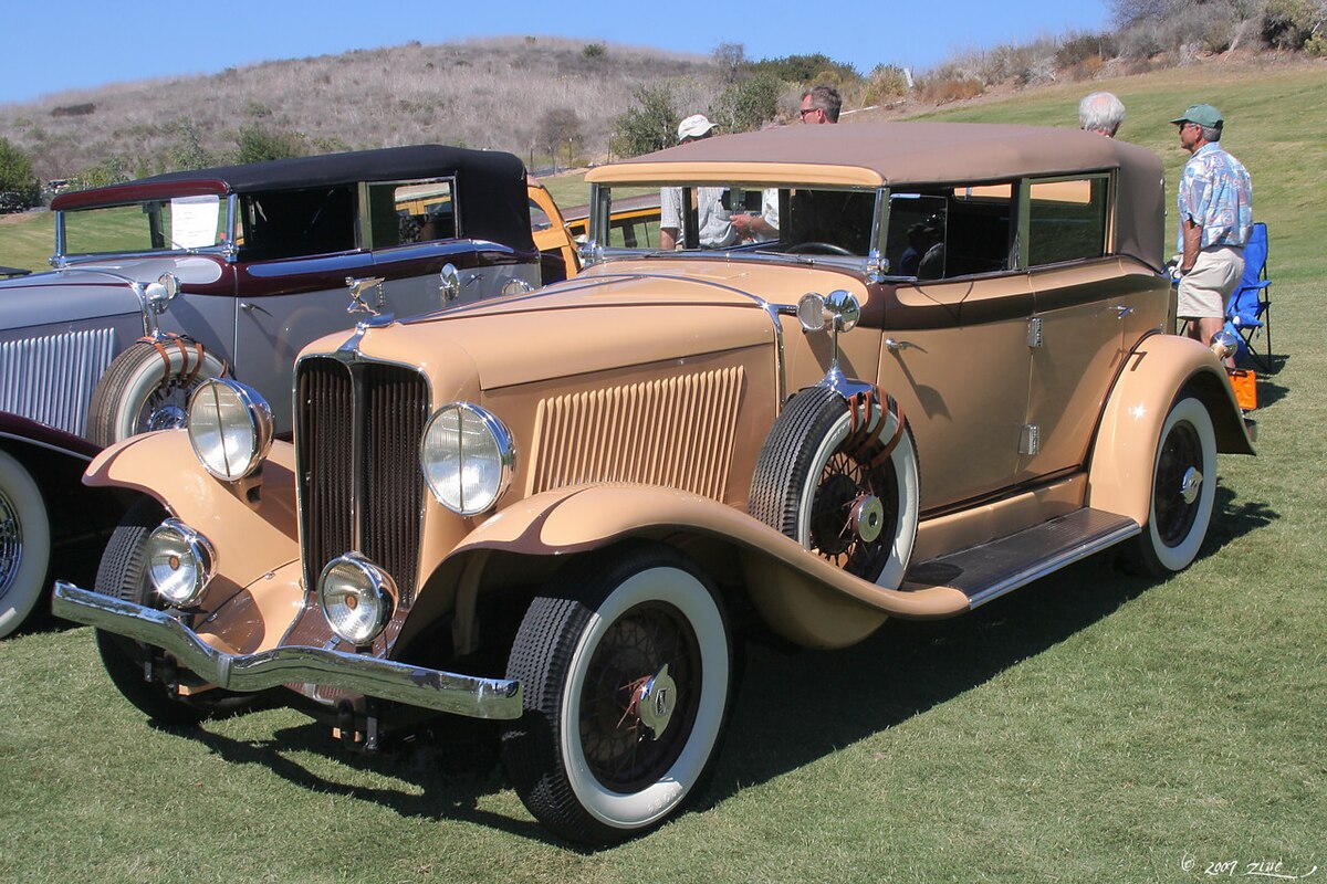
[[[888,396],[808,387],[760,448],[748,512],[845,571],[897,588],[917,539],[917,447]]]

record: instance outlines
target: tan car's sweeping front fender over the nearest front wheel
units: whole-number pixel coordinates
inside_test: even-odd
[[[667,542],[703,535],[733,549],[756,607],[771,627],[799,644],[852,644],[888,615],[932,619],[969,608],[967,596],[955,588],[882,588],[840,570],[739,509],[653,485],[585,485],[528,497],[480,525],[450,558],[486,549],[565,555],[641,535]],[[799,626],[800,620],[805,624]]]

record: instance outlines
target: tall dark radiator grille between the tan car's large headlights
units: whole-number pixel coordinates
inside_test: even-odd
[[[296,378],[304,579],[356,550],[414,600],[423,517],[419,439],[429,386],[410,368],[312,358]]]

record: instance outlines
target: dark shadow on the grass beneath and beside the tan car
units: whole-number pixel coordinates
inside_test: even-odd
[[[1275,518],[1266,505],[1237,504],[1230,489],[1218,486],[1217,518],[1200,558]],[[904,722],[1105,619],[1156,583],[1123,573],[1117,558],[1111,551],[1095,555],[962,618],[890,620],[865,641],[841,651],[784,655],[752,645],[715,779],[695,807],[713,807],[742,787]],[[479,808],[482,797],[507,789],[498,763],[498,728],[460,718],[445,728],[433,742],[405,742],[374,755],[346,751],[326,728],[312,722],[283,728],[259,741],[206,729],[178,733],[228,762],[261,765],[311,791],[370,802],[401,816],[470,822],[593,852],[560,842],[532,820]],[[334,758],[413,787],[338,782],[300,763],[301,753]]]

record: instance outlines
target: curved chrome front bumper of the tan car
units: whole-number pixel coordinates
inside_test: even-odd
[[[322,648],[224,653],[165,611],[90,592],[64,580],[56,580],[50,610],[66,620],[162,648],[200,679],[227,691],[317,684],[471,718],[519,718],[522,714],[519,681],[454,675]]]

